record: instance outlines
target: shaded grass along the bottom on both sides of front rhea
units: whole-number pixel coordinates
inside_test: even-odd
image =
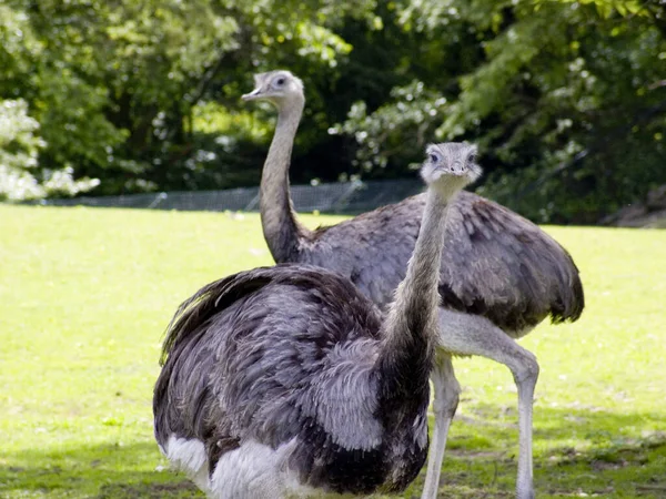
[[[666,497],[666,434],[642,431],[654,428],[655,421],[663,420],[662,415],[552,408],[538,408],[537,413],[538,497]],[[517,470],[517,417],[514,416],[500,407],[475,405],[465,417],[456,419],[444,460],[440,497],[514,496]],[[561,441],[569,444],[559,446]],[[49,454],[29,451],[4,456],[0,462],[8,464],[0,466],[3,498],[203,497],[182,475],[155,470],[160,461],[154,444],[149,441]],[[424,473],[425,470],[403,497],[418,497]]]

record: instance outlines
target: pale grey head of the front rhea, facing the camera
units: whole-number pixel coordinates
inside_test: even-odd
[[[430,144],[426,159],[421,166],[421,176],[426,184],[463,189],[476,181],[482,173],[476,164],[476,145],[466,142]]]

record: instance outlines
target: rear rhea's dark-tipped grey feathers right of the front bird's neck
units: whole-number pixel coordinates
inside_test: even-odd
[[[484,315],[505,330],[533,327],[548,314],[576,320],[585,304],[569,254],[532,222],[462,192],[450,207],[442,258],[445,306]]]

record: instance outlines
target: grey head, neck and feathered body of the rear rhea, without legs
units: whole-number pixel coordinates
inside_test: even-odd
[[[350,277],[383,307],[405,275],[425,195],[337,225],[305,228],[289,196],[289,162],[304,104],[303,85],[287,71],[273,71],[255,77],[255,92],[275,79],[293,86],[268,98],[280,110],[261,184],[262,225],[271,253],[279,263],[319,265]],[[581,316],[578,269],[566,249],[538,226],[470,192],[452,201],[448,218],[440,271],[444,306],[487,314],[507,333],[533,327],[548,315],[556,323]]]

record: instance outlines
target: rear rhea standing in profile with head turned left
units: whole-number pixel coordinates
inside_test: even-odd
[[[405,277],[427,195],[410,197],[334,226],[310,231],[299,223],[289,190],[294,136],[304,106],[303,83],[289,71],[255,75],[244,100],[278,109],[278,125],[263,167],[260,211],[275,262],[307,263],[349,277],[385,308]],[[532,408],[536,357],[515,339],[548,315],[576,320],[584,307],[578,269],[551,236],[514,212],[462,192],[451,204],[442,265],[434,271],[441,298],[438,352],[433,370],[435,427],[423,499],[436,497],[446,437],[461,387],[452,356],[481,355],[506,365],[518,390],[518,499],[534,497]]]

